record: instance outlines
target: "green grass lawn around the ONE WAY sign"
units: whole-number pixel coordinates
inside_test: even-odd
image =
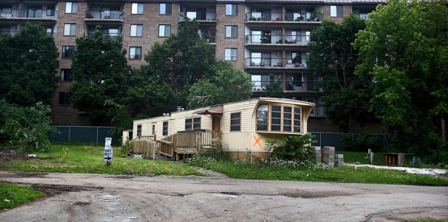
[[[112,147],[114,148],[114,147]],[[90,145],[52,145],[48,153],[35,152],[40,158],[0,162],[2,171],[39,171],[64,173],[98,173],[98,174],[147,174],[187,176],[203,174],[190,166],[168,161],[123,158],[120,148],[114,148],[112,162],[103,162],[104,146]],[[64,155],[65,151],[67,152]]]

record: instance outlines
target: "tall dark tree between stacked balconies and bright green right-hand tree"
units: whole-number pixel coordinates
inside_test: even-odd
[[[319,96],[325,114],[343,132],[349,132],[351,121],[363,125],[372,118],[369,81],[354,75],[358,51],[352,44],[355,34],[364,28],[364,21],[350,14],[341,24],[323,20],[310,34],[307,65],[314,77],[322,79]]]

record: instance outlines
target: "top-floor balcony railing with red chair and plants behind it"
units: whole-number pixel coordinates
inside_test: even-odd
[[[301,18],[302,17],[302,18]],[[251,12],[246,13],[246,21],[321,21],[322,13],[272,13]]]

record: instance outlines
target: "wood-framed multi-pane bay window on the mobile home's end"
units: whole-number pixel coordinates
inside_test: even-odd
[[[301,132],[302,109],[281,105],[259,105],[257,131]]]

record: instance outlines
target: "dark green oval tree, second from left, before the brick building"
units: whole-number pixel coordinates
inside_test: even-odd
[[[86,112],[94,126],[110,117],[118,120],[118,115],[125,115],[121,99],[126,95],[131,70],[125,55],[121,37],[104,41],[101,31],[97,31],[93,38],[76,38],[69,101],[74,108]]]

